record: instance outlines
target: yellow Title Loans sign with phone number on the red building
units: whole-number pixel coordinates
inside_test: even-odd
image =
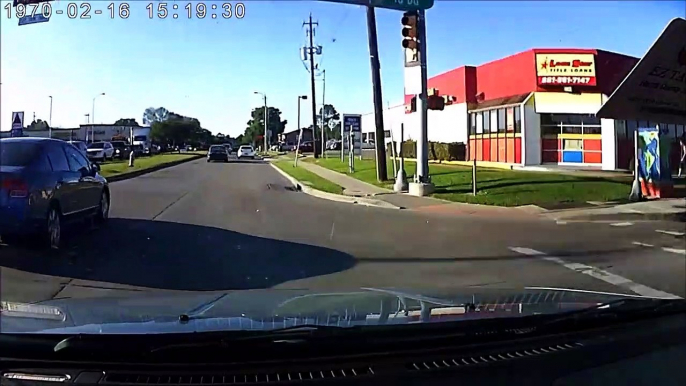
[[[536,54],[539,86],[595,86],[593,54]]]

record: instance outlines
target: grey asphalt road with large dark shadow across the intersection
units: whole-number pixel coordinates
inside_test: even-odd
[[[0,298],[282,288],[562,287],[686,297],[683,223],[555,223],[337,203],[265,161],[111,184],[110,222],[56,256],[0,246]]]

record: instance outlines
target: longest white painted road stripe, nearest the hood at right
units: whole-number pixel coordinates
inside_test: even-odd
[[[521,253],[523,255],[528,255],[528,256],[540,256],[542,260],[550,261],[553,263],[560,264],[561,266],[568,268],[574,272],[582,273],[584,275],[588,275],[592,278],[602,280],[606,283],[610,283],[612,285],[616,285],[617,287],[627,289],[633,293],[643,295],[643,296],[649,296],[653,298],[668,298],[668,299],[681,299],[681,297],[676,296],[674,294],[670,294],[668,292],[663,292],[660,290],[656,290],[654,288],[650,288],[648,286],[645,286],[643,284],[635,283],[625,277],[615,275],[613,273],[610,273],[608,271],[592,267],[590,265],[586,264],[581,264],[581,263],[568,263],[564,260],[562,260],[559,257],[555,256],[547,256],[545,253],[541,251],[537,251],[535,249],[531,248],[522,248],[522,247],[510,247],[511,251]]]

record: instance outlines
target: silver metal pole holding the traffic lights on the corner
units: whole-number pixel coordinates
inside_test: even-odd
[[[421,66],[422,91],[417,98],[421,127],[417,140],[417,175],[416,182],[429,183],[429,140],[428,140],[428,103],[427,103],[427,73],[426,73],[426,16],[424,10],[419,11],[417,33],[419,38],[419,61]]]

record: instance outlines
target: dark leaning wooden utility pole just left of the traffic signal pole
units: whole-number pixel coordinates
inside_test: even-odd
[[[383,127],[383,99],[381,97],[381,63],[379,62],[379,47],[376,38],[376,14],[374,7],[367,6],[367,39],[369,41],[369,60],[372,68],[372,88],[374,91],[374,118],[376,135],[374,148],[376,150],[376,179],[379,182],[388,179],[386,170],[386,142]]]

